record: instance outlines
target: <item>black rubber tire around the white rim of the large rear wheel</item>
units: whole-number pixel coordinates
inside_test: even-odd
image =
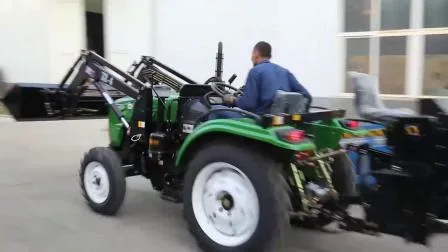
[[[215,162],[225,162],[237,167],[251,182],[258,196],[259,218],[257,227],[244,243],[235,246],[218,244],[208,236],[198,223],[192,204],[195,179],[203,168]],[[247,146],[226,141],[208,143],[201,148],[187,165],[184,184],[184,217],[190,232],[204,251],[243,252],[278,251],[289,225],[291,209],[287,183],[281,166],[268,155],[262,155]]]

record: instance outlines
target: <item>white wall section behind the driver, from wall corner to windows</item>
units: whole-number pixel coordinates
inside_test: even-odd
[[[214,74],[218,41],[224,76],[242,85],[253,45],[273,46],[273,61],[289,68],[315,96],[342,91],[339,1],[159,0],[155,56],[203,82]]]

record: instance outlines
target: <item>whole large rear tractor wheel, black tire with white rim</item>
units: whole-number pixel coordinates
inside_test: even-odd
[[[202,249],[277,251],[290,204],[280,166],[253,150],[214,142],[187,169],[185,218]]]

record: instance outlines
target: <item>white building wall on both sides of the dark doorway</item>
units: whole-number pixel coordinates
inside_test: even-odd
[[[84,0],[2,0],[0,67],[10,82],[59,82],[85,48]],[[104,0],[105,56],[126,69],[153,55],[198,82],[224,74],[242,85],[259,40],[315,96],[342,91],[338,1]],[[5,35],[7,34],[7,35]]]

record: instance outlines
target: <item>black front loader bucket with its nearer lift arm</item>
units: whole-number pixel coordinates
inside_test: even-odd
[[[135,98],[144,84],[92,51],[83,51],[59,84],[5,83],[0,102],[17,121],[89,119],[108,115],[114,100]]]

